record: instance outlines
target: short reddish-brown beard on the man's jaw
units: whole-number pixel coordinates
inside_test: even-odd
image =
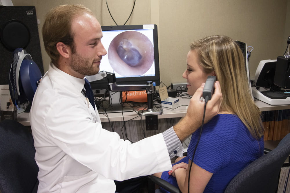
[[[93,61],[75,53],[70,60],[70,67],[82,75],[95,75],[99,72],[99,67],[94,68]]]

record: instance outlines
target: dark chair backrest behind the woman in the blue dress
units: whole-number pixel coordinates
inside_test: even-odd
[[[227,186],[225,193],[276,192],[279,174],[290,154],[290,133],[278,146],[256,159],[239,172]]]

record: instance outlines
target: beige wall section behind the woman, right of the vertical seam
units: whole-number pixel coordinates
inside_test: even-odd
[[[227,35],[254,47],[250,58],[251,77],[260,60],[276,59],[286,49],[287,0],[159,0],[159,5],[162,81],[182,81],[180,76],[186,68],[189,43],[207,35]],[[169,74],[176,75],[166,76],[168,68]]]

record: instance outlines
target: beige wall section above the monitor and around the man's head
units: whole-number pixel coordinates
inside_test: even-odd
[[[115,25],[114,21],[111,19],[110,14],[108,12],[106,1],[102,0],[12,0],[14,6],[25,6],[25,5],[33,5],[36,9],[37,19],[40,20],[40,24],[38,25],[39,30],[39,38],[41,44],[41,52],[42,52],[42,60],[44,64],[44,71],[48,70],[48,64],[50,62],[50,58],[45,52],[43,39],[41,35],[41,28],[44,22],[44,18],[46,13],[50,8],[53,8],[57,5],[63,4],[83,4],[86,7],[90,8],[93,11],[97,19],[99,20],[101,25]],[[108,0],[108,5],[110,8],[110,12],[118,25],[123,25],[128,16],[131,13],[133,8],[134,1],[130,1],[128,3],[127,0]],[[134,24],[150,24],[151,23],[151,14],[150,14],[150,3],[147,1],[137,0],[135,3],[134,11],[131,15],[131,18],[128,20],[126,25],[134,25]],[[32,56],[33,57],[33,56]]]

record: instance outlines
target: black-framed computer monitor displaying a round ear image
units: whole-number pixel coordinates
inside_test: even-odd
[[[108,54],[100,71],[115,73],[117,84],[160,85],[157,25],[102,26],[102,31]]]

